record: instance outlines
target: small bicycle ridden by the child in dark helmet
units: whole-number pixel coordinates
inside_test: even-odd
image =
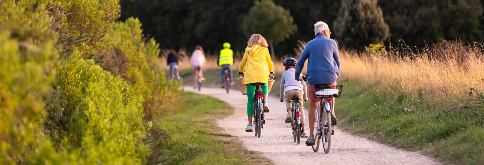
[[[301,123],[301,118],[300,118],[300,107],[301,105],[299,104],[299,100],[301,98],[294,96],[292,100],[292,110],[291,110],[291,120],[286,121],[291,123],[291,128],[292,128],[292,135],[294,142],[297,142],[298,144],[301,142],[301,133],[302,131],[302,123]]]

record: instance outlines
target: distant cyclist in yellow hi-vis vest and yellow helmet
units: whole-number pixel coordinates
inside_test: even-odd
[[[230,74],[230,84],[232,82],[232,65],[234,65],[234,53],[232,49],[230,49],[230,44],[224,43],[224,49],[220,50],[220,56],[218,58],[218,66],[221,66],[220,78],[222,79],[222,88],[225,87],[225,80],[224,80],[224,70],[228,69]]]

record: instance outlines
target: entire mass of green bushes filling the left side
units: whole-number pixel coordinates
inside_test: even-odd
[[[181,104],[117,0],[0,1],[0,164],[151,164]]]

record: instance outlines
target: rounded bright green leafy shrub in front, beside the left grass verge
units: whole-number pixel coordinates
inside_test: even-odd
[[[145,162],[141,101],[121,77],[79,54],[59,65],[46,98],[46,132],[58,147],[81,155],[81,164]]]

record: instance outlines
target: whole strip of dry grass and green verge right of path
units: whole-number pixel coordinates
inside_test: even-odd
[[[452,164],[484,161],[482,45],[442,42],[343,51],[336,114],[350,132]],[[356,108],[355,108],[356,107]]]

